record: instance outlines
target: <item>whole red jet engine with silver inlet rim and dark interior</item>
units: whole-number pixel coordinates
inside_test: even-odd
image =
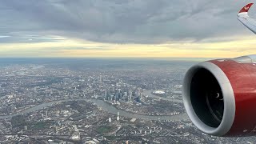
[[[256,55],[202,62],[188,70],[183,101],[202,132],[222,137],[256,135]]]

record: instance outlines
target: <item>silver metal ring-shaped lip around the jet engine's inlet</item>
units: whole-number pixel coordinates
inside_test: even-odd
[[[202,120],[200,120],[200,118],[198,118],[197,114],[194,112],[194,108],[190,99],[190,84],[192,78],[194,74],[202,68],[209,70],[210,73],[214,75],[214,77],[218,81],[218,84],[221,87],[223,94],[224,113],[222,117],[222,122],[216,128],[207,126],[204,122],[202,122]],[[186,113],[199,130],[202,130],[202,132],[214,136],[224,136],[230,130],[235,117],[234,91],[229,79],[226,77],[226,74],[217,65],[212,62],[201,62],[198,65],[191,67],[190,70],[188,70],[188,72],[186,73],[183,81],[182,97]]]

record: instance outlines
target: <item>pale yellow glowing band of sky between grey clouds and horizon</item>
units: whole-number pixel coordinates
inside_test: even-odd
[[[65,38],[56,42],[3,43],[0,57],[234,58],[256,53],[253,37],[223,42],[112,44]]]

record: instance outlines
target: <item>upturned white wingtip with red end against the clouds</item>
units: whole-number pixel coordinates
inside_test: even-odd
[[[256,34],[256,20],[254,18],[250,18],[248,15],[248,11],[250,10],[250,6],[253,6],[254,3],[249,3],[242,8],[242,10],[238,13],[238,20],[242,22],[244,26],[246,26],[249,30],[253,31]]]

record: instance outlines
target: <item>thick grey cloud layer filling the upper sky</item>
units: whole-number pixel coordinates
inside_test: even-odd
[[[200,41],[249,34],[236,18],[245,4],[234,0],[0,0],[0,34],[114,43]]]

